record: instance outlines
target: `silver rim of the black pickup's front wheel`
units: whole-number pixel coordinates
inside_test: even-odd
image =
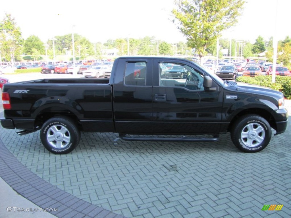
[[[248,147],[259,146],[265,139],[265,129],[258,123],[247,124],[240,136],[242,143]]]

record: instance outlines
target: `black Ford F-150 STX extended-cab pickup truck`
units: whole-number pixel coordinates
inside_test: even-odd
[[[165,65],[182,66],[183,76]],[[280,92],[223,81],[192,61],[120,57],[110,79],[40,79],[3,86],[3,128],[40,130],[56,154],[72,151],[80,131],[119,133],[124,140],[215,141],[230,132],[238,149],[257,152],[287,126]]]

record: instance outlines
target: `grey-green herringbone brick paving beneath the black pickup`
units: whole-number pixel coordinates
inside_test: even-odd
[[[229,134],[190,143],[82,133],[66,155],[45,150],[39,132],[18,136],[0,127],[0,138],[33,174],[125,217],[290,217],[290,131],[289,121],[287,131],[258,153],[240,152]],[[262,211],[265,204],[284,206]]]

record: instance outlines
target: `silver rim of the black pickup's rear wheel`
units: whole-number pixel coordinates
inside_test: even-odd
[[[71,141],[71,135],[66,127],[54,125],[47,131],[47,141],[54,148],[61,149],[68,146]]]

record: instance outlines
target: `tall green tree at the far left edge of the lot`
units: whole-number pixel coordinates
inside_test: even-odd
[[[20,28],[16,26],[15,19],[10,14],[0,22],[1,56],[14,64],[15,59],[20,60],[23,38]]]

